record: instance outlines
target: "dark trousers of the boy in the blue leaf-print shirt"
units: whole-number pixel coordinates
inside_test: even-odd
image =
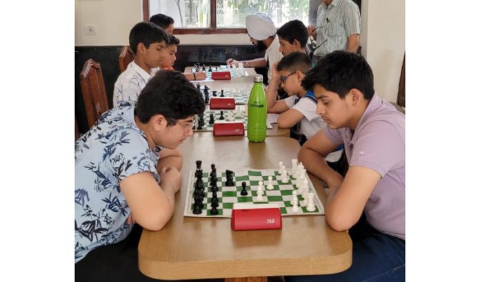
[[[161,281],[145,276],[139,270],[137,247],[141,231],[141,226],[135,224],[132,232],[125,240],[89,252],[81,261],[75,264],[75,281]],[[223,279],[203,281],[221,282]]]

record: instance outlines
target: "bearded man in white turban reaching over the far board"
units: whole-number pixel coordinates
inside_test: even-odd
[[[246,68],[266,68],[268,67],[268,81],[272,78],[273,64],[283,57],[279,51],[280,43],[277,37],[277,28],[266,14],[258,12],[257,14],[249,14],[246,19],[246,26],[250,42],[257,46],[259,52],[265,52],[265,57],[252,60],[237,61],[234,59],[227,60],[227,66],[239,66],[239,62],[243,63]]]

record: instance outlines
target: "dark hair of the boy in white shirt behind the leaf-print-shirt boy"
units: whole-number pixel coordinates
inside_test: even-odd
[[[168,35],[165,30],[159,28],[159,26],[154,23],[146,23],[143,21],[137,23],[128,35],[128,43],[130,43],[133,54],[137,54],[137,46],[139,46],[139,43],[143,43],[146,48],[149,48],[150,44],[161,41],[168,43]]]

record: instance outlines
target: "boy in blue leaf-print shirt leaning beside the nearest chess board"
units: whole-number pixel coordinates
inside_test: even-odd
[[[159,70],[137,103],[108,110],[75,143],[76,281],[145,277],[136,250],[141,228],[166,225],[181,186],[179,170],[162,152],[191,136],[204,110],[181,72]]]

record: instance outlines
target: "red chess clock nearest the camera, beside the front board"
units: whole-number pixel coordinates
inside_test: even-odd
[[[281,229],[281,212],[274,203],[234,203],[232,230]]]

